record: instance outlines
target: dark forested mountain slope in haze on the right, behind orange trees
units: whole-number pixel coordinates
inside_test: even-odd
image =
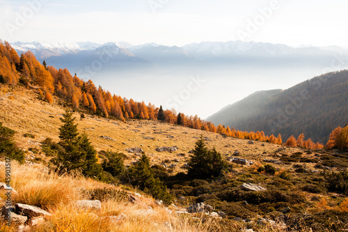
[[[326,143],[332,128],[348,123],[348,70],[331,72],[285,91],[262,91],[209,116],[236,130],[264,131]]]

